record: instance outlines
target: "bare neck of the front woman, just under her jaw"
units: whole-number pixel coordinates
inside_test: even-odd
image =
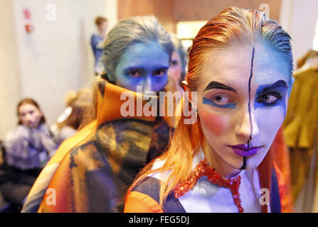
[[[235,169],[234,167],[228,165],[226,161],[224,161],[208,144],[208,142],[204,139],[202,142],[202,150],[204,155],[206,156],[206,160],[208,163],[216,169],[216,172],[221,177],[229,178],[237,176],[241,170]]]

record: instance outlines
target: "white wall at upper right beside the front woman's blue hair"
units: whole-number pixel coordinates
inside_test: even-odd
[[[295,66],[297,59],[312,49],[318,18],[317,0],[282,0],[280,24],[292,37]]]

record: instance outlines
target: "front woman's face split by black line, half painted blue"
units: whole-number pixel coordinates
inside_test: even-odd
[[[289,66],[266,44],[236,45],[203,62],[198,116],[210,152],[237,170],[260,165],[285,119]]]

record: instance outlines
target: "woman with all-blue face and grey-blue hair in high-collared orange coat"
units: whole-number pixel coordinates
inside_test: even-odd
[[[86,114],[85,121],[92,121],[60,145],[23,212],[123,210],[124,192],[144,167],[147,153],[158,141],[164,143],[153,133],[161,123],[157,116],[136,112],[147,104],[146,94],[164,90],[172,51],[169,34],[154,16],[127,18],[112,28],[101,59],[105,72],[95,79]],[[132,115],[124,116],[122,106],[129,101]]]

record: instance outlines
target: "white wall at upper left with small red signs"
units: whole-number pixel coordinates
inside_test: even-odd
[[[105,16],[109,20],[110,27],[115,25],[117,0],[1,0],[1,5],[4,4],[3,1],[6,5],[11,4],[6,8],[0,6],[0,15],[2,16],[5,12],[11,19],[11,26],[6,24],[8,27],[6,30],[11,28],[11,34],[4,33],[0,36],[8,36],[7,39],[10,39],[9,35],[11,35],[16,39],[16,41],[12,39],[7,47],[7,49],[15,48],[16,56],[11,57],[9,62],[1,60],[0,68],[2,65],[7,68],[12,65],[17,66],[18,79],[12,87],[16,89],[17,84],[21,84],[18,99],[26,96],[36,99],[48,123],[54,123],[64,109],[66,92],[90,85],[94,79],[90,48],[90,35],[96,31],[94,20],[96,16]],[[48,4],[55,6],[55,21],[47,19],[48,15],[52,15],[48,14],[52,12],[52,8],[46,9]],[[6,9],[10,7],[13,11],[7,12]],[[24,28],[26,20],[23,18],[23,9],[25,7],[32,13],[31,22],[35,27],[33,33],[26,33]],[[1,49],[0,56],[4,55]],[[18,63],[14,62],[15,60]],[[1,71],[0,91],[7,86],[2,83],[2,74],[5,73]],[[9,75],[4,77],[8,79]],[[1,94],[0,99],[4,98],[5,96]],[[10,101],[14,103],[1,106],[10,109],[12,115],[12,112],[16,111],[17,99]],[[3,102],[1,101],[1,104]],[[9,123],[5,121],[16,123],[16,116],[6,120],[1,117],[0,138],[3,138],[9,129]]]

